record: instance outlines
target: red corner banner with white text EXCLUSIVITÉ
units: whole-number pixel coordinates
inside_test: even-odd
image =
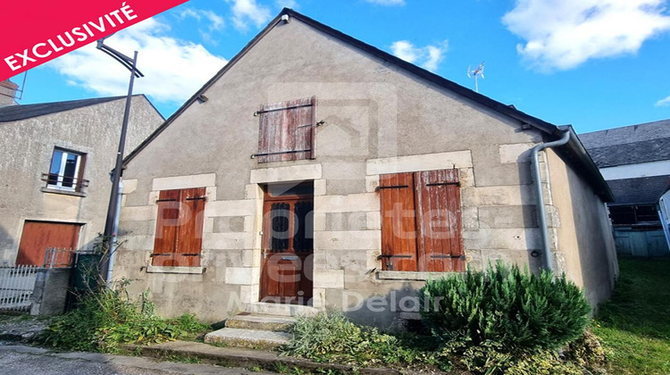
[[[8,1],[0,21],[0,80],[35,68],[188,0]]]

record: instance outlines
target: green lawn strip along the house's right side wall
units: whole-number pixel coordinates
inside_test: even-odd
[[[615,374],[670,373],[670,259],[621,259],[612,300],[593,332]]]

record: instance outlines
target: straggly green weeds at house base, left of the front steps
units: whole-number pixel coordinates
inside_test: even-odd
[[[39,341],[65,350],[114,353],[121,344],[189,338],[208,327],[194,315],[162,319],[146,295],[139,304],[122,295],[103,290],[84,297],[77,309],[56,318]]]

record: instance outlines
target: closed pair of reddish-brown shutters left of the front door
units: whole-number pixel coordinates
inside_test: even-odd
[[[152,265],[200,266],[205,200],[205,187],[160,192]]]

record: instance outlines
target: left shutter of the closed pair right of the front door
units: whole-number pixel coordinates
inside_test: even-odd
[[[414,175],[381,175],[380,199],[382,268],[416,271]]]

